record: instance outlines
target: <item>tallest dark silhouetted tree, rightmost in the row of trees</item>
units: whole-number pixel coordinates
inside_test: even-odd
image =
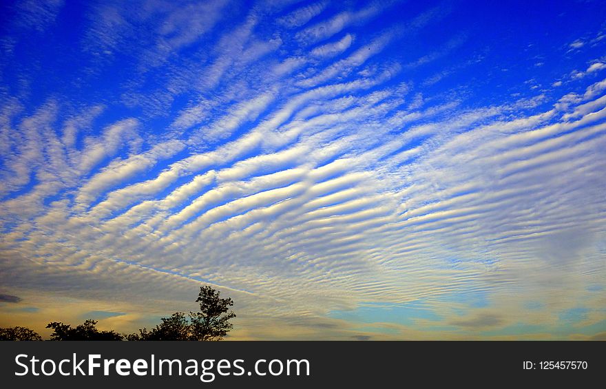
[[[210,286],[201,286],[196,302],[200,303],[200,312],[190,312],[191,340],[221,340],[233,324],[229,319],[236,317],[229,307],[233,306],[231,298],[222,299],[220,291]]]

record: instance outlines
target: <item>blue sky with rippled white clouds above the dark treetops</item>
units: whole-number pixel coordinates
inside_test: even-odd
[[[0,326],[606,339],[602,1],[2,1]]]

